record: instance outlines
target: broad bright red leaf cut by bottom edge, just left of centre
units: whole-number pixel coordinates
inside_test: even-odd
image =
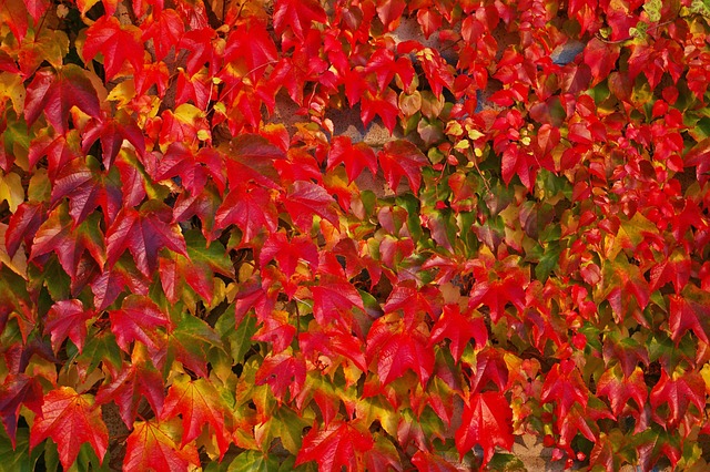
[[[295,465],[315,461],[323,472],[341,472],[362,468],[363,453],[374,445],[369,432],[361,431],[351,423],[332,422],[325,429],[313,428],[303,438]]]

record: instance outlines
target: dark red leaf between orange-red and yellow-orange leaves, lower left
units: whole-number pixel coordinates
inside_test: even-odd
[[[104,404],[113,401],[119,407],[121,419],[129,429],[133,429],[143,397],[155,414],[162,412],[165,400],[163,378],[145,359],[144,348],[135,349],[131,360],[132,363],[124,363],[120,368],[109,362],[106,368],[111,373],[111,381],[101,386],[97,392],[97,403]]]

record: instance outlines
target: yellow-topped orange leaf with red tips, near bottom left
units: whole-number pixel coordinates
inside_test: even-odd
[[[231,431],[225,425],[225,418],[230,418],[230,411],[212,383],[205,379],[191,380],[190,376],[182,374],[173,380],[168,390],[161,420],[178,414],[182,417],[181,449],[196,439],[205,424],[210,424],[216,435],[221,460],[232,442]]]

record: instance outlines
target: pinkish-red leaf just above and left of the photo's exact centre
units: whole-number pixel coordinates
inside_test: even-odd
[[[295,225],[304,233],[310,233],[314,215],[327,220],[336,228],[339,226],[335,201],[325,188],[313,182],[294,182],[288,187],[284,206]]]

